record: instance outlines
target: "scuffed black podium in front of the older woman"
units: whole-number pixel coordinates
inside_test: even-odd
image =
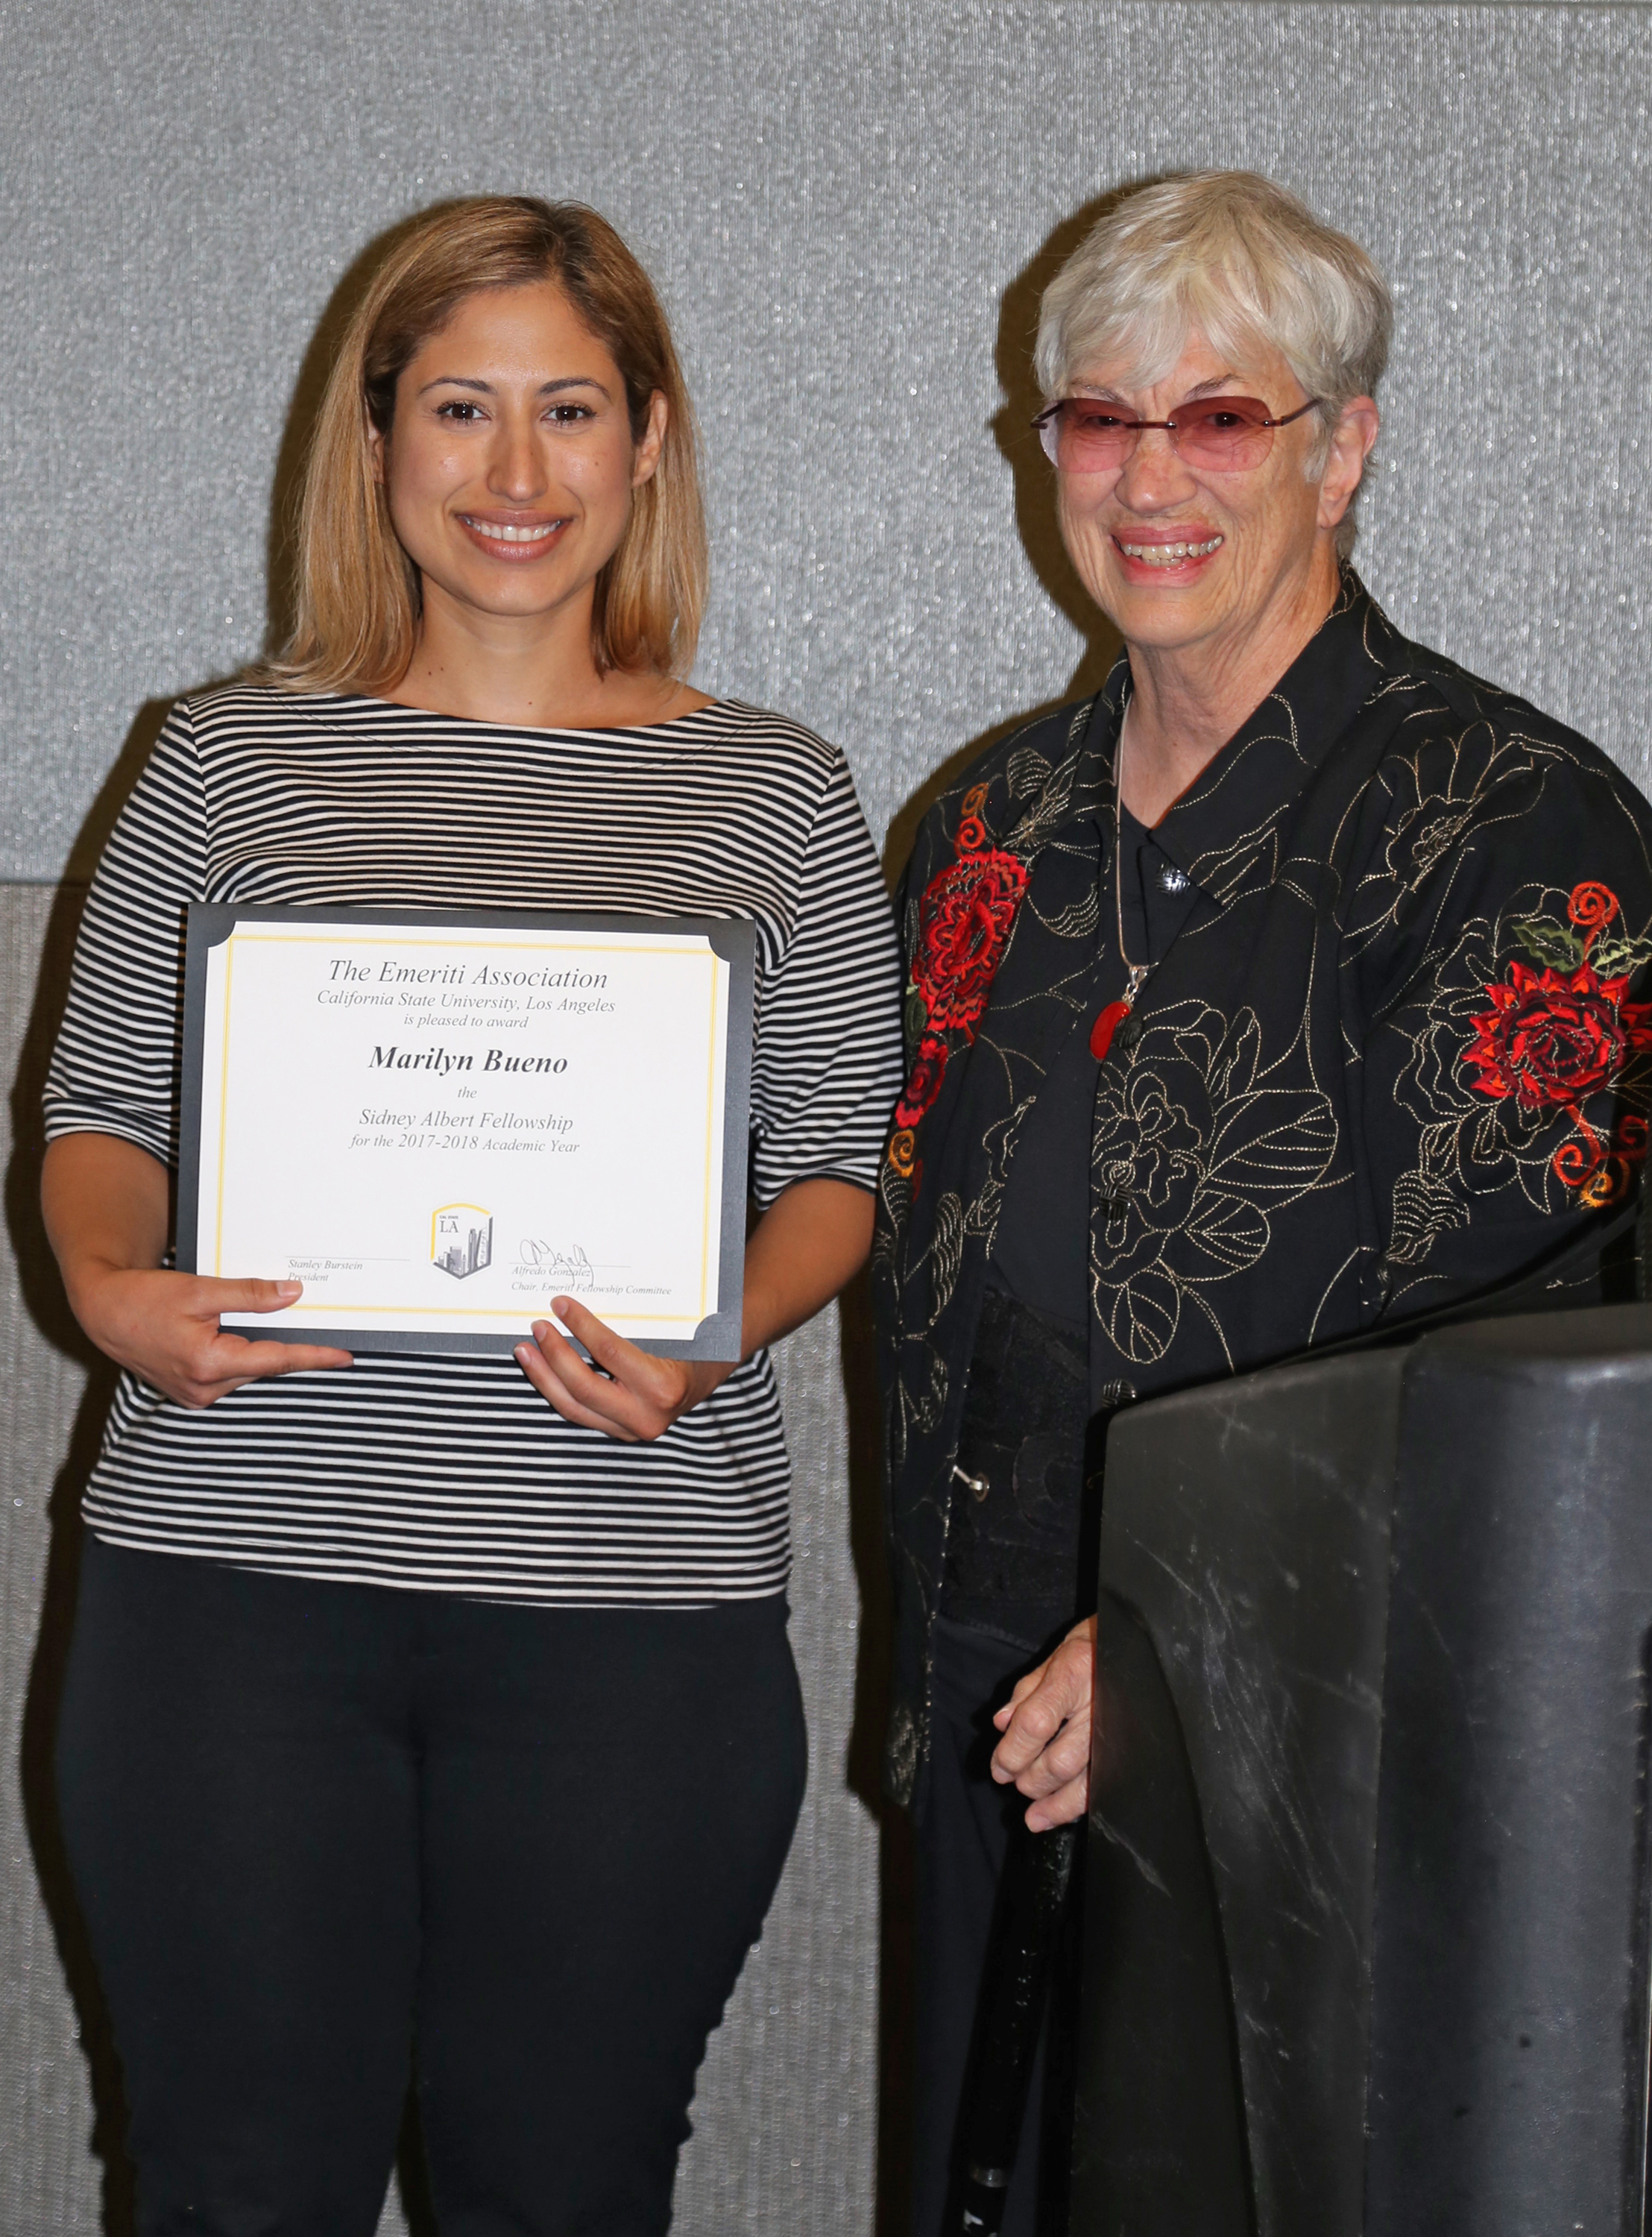
[[[1073,2237],[1648,2197],[1652,1306],[1113,1423]]]

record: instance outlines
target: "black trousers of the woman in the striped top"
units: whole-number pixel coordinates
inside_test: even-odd
[[[785,1602],[563,1611],[87,1541],[58,1731],[141,2237],[657,2237],[805,1781]]]

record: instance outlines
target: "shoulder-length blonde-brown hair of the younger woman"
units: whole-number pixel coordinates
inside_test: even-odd
[[[418,568],[373,472],[396,383],[467,295],[554,280],[626,385],[633,441],[666,398],[659,463],[630,494],[619,548],[597,575],[590,649],[599,673],[686,676],[706,604],[697,432],[671,327],[648,273],[606,217],[577,201],[474,195],[411,219],[344,327],[315,418],[297,506],[293,633],[266,667],[293,691],[387,691],[418,638]]]

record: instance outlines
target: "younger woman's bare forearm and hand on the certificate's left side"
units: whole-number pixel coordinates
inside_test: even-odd
[[[63,1134],[40,1174],[40,1208],[69,1309],[85,1333],[179,1405],[203,1407],[262,1376],[349,1367],[349,1351],[279,1344],[219,1327],[219,1313],[279,1313],[302,1282],[219,1282],[161,1266],[165,1165],[116,1134]]]

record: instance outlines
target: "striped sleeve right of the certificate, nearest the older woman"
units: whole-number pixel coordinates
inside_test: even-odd
[[[794,1181],[876,1186],[901,1089],[894,917],[841,754],[803,855],[798,915],[765,973],[751,1065],[751,1195]]]

